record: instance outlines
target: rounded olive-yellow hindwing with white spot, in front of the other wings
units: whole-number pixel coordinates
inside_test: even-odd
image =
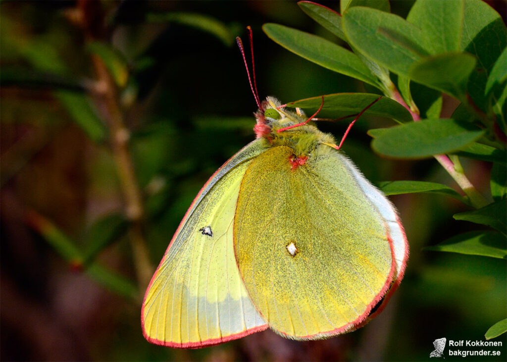
[[[365,320],[389,288],[396,262],[382,215],[347,166],[328,153],[293,170],[292,152],[275,147],[249,164],[234,250],[270,327],[317,339]]]

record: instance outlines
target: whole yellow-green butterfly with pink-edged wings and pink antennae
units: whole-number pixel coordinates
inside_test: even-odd
[[[339,151],[345,137],[336,146],[315,115],[261,102],[255,74],[250,86],[257,137],[209,178],[170,241],[142,304],[152,343],[199,348],[267,328],[296,340],[346,333],[403,278],[403,226]]]

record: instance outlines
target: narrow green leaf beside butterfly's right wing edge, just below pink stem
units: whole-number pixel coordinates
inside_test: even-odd
[[[400,195],[413,193],[440,194],[455,198],[465,204],[468,201],[448,186],[423,181],[384,181],[378,187],[386,195]]]

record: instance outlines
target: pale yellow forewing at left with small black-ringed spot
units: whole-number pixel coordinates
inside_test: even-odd
[[[252,305],[233,250],[233,219],[249,143],[211,176],[190,206],[148,286],[144,337],[170,347],[203,347],[267,328]]]

